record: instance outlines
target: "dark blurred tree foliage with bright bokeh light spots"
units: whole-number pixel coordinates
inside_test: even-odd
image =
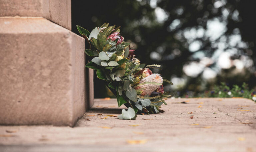
[[[74,0],[72,31],[121,26],[141,63],[160,64],[176,96],[215,84],[256,86],[256,9],[249,0]],[[95,98],[111,96],[95,78]]]

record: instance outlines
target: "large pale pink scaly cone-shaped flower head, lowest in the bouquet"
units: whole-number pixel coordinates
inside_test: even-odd
[[[147,94],[151,94],[155,91],[159,86],[163,83],[163,78],[160,74],[151,74],[144,79],[140,80],[139,84],[135,86],[134,89],[141,89],[141,96],[145,96]]]

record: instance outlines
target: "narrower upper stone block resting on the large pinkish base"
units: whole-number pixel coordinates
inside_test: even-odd
[[[71,0],[0,0],[0,16],[41,16],[71,30]]]

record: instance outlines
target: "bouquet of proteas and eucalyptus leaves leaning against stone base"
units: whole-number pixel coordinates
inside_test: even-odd
[[[77,26],[87,43],[85,53],[93,57],[85,67],[96,70],[97,77],[105,80],[107,87],[116,95],[118,107],[124,104],[135,114],[164,112],[159,108],[171,95],[164,92],[163,82],[172,83],[150,70],[160,65],[145,66],[135,58],[134,50],[120,36],[119,28],[105,23],[89,32]],[[125,112],[122,111],[122,115]]]

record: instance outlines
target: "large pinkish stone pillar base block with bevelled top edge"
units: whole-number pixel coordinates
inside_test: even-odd
[[[41,17],[0,17],[0,124],[73,126],[86,107],[84,43]]]

